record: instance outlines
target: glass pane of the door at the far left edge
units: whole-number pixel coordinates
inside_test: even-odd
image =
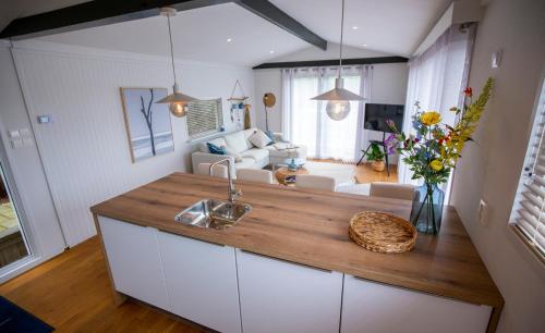
[[[8,164],[0,159],[0,269],[31,255],[14,202],[15,186],[10,181]]]

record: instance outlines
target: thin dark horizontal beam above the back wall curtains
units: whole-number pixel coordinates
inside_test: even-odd
[[[373,57],[373,58],[353,58],[342,59],[342,65],[376,64],[376,63],[399,63],[408,62],[404,57]],[[254,70],[264,69],[292,69],[292,67],[322,67],[338,66],[339,59],[330,60],[311,60],[311,61],[289,61],[289,62],[266,62],[253,67]]]

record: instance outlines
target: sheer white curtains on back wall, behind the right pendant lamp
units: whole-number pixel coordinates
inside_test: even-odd
[[[371,71],[371,66],[344,66],[344,88],[365,97]],[[360,152],[363,103],[352,101],[349,115],[334,121],[327,116],[327,102],[311,100],[332,89],[337,76],[336,67],[282,70],[282,132],[293,143],[305,145],[310,157],[353,161]]]

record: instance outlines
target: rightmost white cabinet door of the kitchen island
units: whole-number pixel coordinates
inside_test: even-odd
[[[341,333],[484,333],[492,308],[344,276]]]

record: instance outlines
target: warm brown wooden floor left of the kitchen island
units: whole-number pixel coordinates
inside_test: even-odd
[[[56,332],[206,332],[132,300],[116,308],[98,237],[0,285],[0,295]]]

